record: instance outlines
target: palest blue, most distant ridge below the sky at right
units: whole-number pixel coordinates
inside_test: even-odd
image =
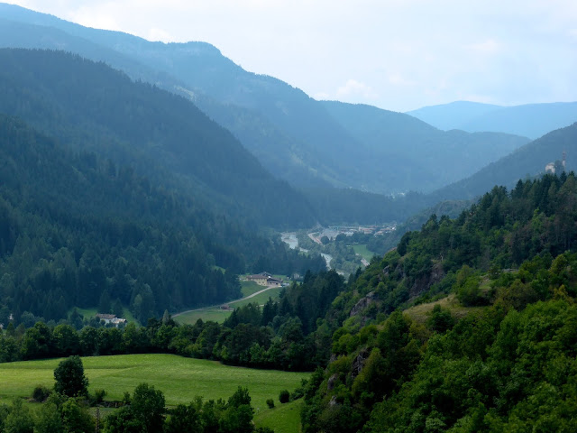
[[[445,131],[491,131],[536,139],[576,122],[577,102],[493,106],[458,101],[440,106],[425,106],[407,114]]]

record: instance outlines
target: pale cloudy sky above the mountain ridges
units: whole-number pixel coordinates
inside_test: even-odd
[[[576,0],[0,0],[150,41],[206,41],[316,99],[394,111],[577,101]]]

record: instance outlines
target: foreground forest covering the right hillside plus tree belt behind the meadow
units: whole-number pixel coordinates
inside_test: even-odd
[[[223,325],[9,325],[2,361],[168,352],[313,370],[304,431],[574,431],[577,180],[495,187],[348,281],[307,272]],[[6,314],[6,309],[3,310]],[[31,323],[30,323],[31,324]],[[88,326],[85,326],[88,325]],[[78,330],[77,330],[78,329]]]

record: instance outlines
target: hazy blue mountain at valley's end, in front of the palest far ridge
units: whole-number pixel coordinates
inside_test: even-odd
[[[431,191],[528,143],[517,135],[444,132],[410,115],[375,106],[329,101],[323,105],[380,159],[383,181],[405,189]]]

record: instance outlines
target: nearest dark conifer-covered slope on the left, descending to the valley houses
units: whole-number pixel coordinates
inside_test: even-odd
[[[31,314],[58,321],[102,298],[146,323],[164,309],[240,297],[236,275],[263,263],[285,274],[325,269],[320,256],[5,115],[0,155],[0,309],[18,323]]]

